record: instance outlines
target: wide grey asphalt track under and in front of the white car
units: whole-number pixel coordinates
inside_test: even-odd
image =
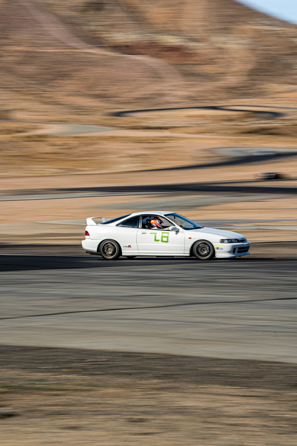
[[[207,263],[1,255],[1,343],[296,363],[296,248]]]

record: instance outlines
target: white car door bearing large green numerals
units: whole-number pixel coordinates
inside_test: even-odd
[[[161,216],[164,221],[164,217]],[[166,221],[172,226],[172,223]],[[137,232],[139,254],[175,255],[184,253],[183,231],[141,228]]]

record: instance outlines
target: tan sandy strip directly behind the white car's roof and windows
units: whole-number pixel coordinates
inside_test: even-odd
[[[2,244],[80,244],[86,217],[114,218],[150,208],[178,211],[202,223],[207,219],[234,219],[226,229],[243,233],[251,242],[297,240],[297,222],[278,221],[297,219],[296,197],[270,194],[142,194],[4,201],[0,236]],[[254,222],[236,223],[236,219],[254,219]],[[257,219],[275,221],[256,223]]]

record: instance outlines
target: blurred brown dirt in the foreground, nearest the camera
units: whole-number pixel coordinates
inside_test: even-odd
[[[296,445],[294,364],[1,346],[7,446]]]

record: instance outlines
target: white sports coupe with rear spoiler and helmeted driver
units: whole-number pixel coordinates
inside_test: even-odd
[[[151,220],[160,219],[162,228],[152,226]],[[101,219],[99,223],[94,219]],[[237,232],[212,229],[169,211],[134,212],[116,219],[87,218],[85,252],[98,254],[105,260],[119,256],[213,257],[228,259],[248,256],[250,242]]]

